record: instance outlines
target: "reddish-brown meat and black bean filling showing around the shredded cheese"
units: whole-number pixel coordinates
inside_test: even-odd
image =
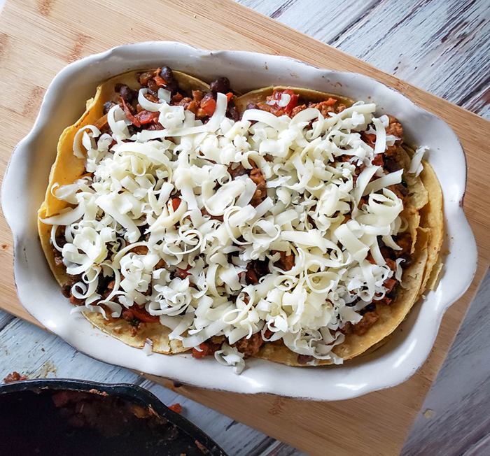
[[[214,114],[216,109],[216,99],[217,94],[222,93],[228,97],[228,108],[226,115],[230,117],[232,120],[239,120],[240,114],[237,111],[235,106],[236,97],[233,94],[230,88],[230,81],[228,78],[218,78],[210,85],[210,92],[203,93],[201,90],[193,90],[188,93],[179,87],[179,83],[174,77],[174,73],[168,66],[162,66],[158,68],[156,71],[146,71],[144,73],[139,73],[137,76],[138,82],[142,87],[148,89],[148,92],[144,95],[146,99],[152,101],[154,103],[159,102],[158,98],[158,90],[163,88],[168,90],[171,93],[170,104],[172,106],[183,106],[185,111],[192,112],[195,117],[202,122],[206,123]],[[146,111],[141,105],[138,103],[138,90],[133,90],[127,85],[118,84],[116,85],[116,99],[106,101],[103,106],[104,115],[96,122],[96,126],[102,131],[102,133],[111,133],[111,129],[107,122],[107,113],[113,106],[117,104],[121,109],[125,112],[127,118],[132,122],[130,125],[130,133],[134,134],[137,131],[142,131],[144,129],[163,129],[162,125],[158,122],[158,117],[160,113],[153,113],[150,111]],[[286,98],[287,104],[283,106],[283,95],[286,94],[289,98]],[[294,117],[296,114],[304,111],[307,108],[316,108],[320,111],[323,117],[328,117],[330,114],[337,114],[344,111],[346,106],[339,102],[338,99],[328,98],[323,101],[311,102],[307,100],[303,100],[301,95],[295,94],[293,90],[283,90],[277,91],[274,90],[272,95],[267,97],[267,101],[258,101],[257,103],[248,104],[247,109],[261,109],[263,111],[269,111],[274,115],[288,115],[289,117]],[[386,173],[393,173],[402,169],[400,162],[402,162],[402,158],[404,154],[400,145],[403,142],[403,128],[402,125],[398,122],[398,120],[393,116],[388,116],[388,127],[386,128],[387,135],[393,135],[395,138],[395,143],[391,146],[388,146],[384,154],[379,154],[374,157],[373,164],[377,166],[381,166],[385,170]],[[370,145],[370,147],[374,148],[374,144],[376,141],[376,135],[367,134],[365,131],[360,132],[361,138],[363,141]],[[172,138],[171,138],[172,139]],[[267,159],[267,157],[265,157]],[[350,157],[340,156],[336,160],[342,162],[348,162]],[[230,165],[228,168],[228,172],[232,179],[239,178],[240,176],[248,176],[253,183],[256,185],[256,190],[253,194],[253,197],[250,201],[250,204],[253,207],[257,207],[267,198],[267,184],[265,181],[265,177],[258,167],[258,165],[253,162],[252,159],[248,159],[251,168],[246,169],[242,164]],[[236,166],[236,167],[233,167]],[[360,165],[356,167],[356,176],[354,176],[354,181],[360,172],[363,171],[364,165]],[[377,176],[373,176],[372,180],[378,178]],[[404,200],[407,196],[407,184],[402,181],[402,183],[391,185],[389,187],[400,199]],[[172,195],[172,204],[174,205],[174,210],[179,207],[180,204],[180,193]],[[365,204],[367,200],[361,199],[360,205]],[[207,213],[206,209],[202,209],[202,215],[210,217],[212,219],[220,220],[223,222],[223,217],[214,217]],[[146,231],[146,227],[141,227],[141,239],[144,240],[145,235],[144,231]],[[60,229],[63,229],[60,227]],[[63,235],[63,231],[59,232],[59,235],[56,238],[57,245],[62,248],[66,240]],[[397,259],[402,259],[401,267],[402,269],[407,269],[408,266],[412,264],[411,257],[411,248],[412,248],[412,236],[409,233],[402,233],[398,236],[393,236],[395,243],[397,243],[401,250],[393,250],[388,248],[381,241],[381,237],[378,238],[379,248],[381,251],[381,255],[384,257],[386,264],[392,271],[396,271]],[[130,250],[136,255],[146,255],[148,253],[148,248],[144,245],[134,247]],[[54,253],[54,261],[56,266],[63,266],[63,258],[62,253],[57,249],[53,249]],[[276,252],[272,251],[272,254],[275,255],[279,253],[279,259],[276,260],[274,266],[282,269],[283,271],[290,271],[295,266],[295,255],[293,252],[286,253],[283,251]],[[367,255],[367,260],[372,262],[374,259],[370,254]],[[165,268],[165,261],[162,259],[155,266],[155,269]],[[188,267],[190,269],[190,266]],[[173,277],[179,277],[181,279],[185,279],[190,274],[188,269],[177,269],[172,272]],[[269,261],[260,261],[253,260],[248,263],[246,267],[246,271],[241,273],[244,275],[244,281],[247,284],[256,285],[259,283],[260,278],[267,276],[269,274]],[[243,277],[241,277],[243,279]],[[70,280],[66,282],[62,286],[62,293],[65,297],[69,298],[71,304],[76,306],[85,305],[85,299],[78,299],[73,296],[73,284],[76,283],[80,278],[78,277],[70,277]],[[191,283],[191,286],[193,284]],[[377,308],[379,306],[388,306],[393,304],[398,297],[398,289],[399,289],[398,280],[395,278],[388,278],[384,282],[384,287],[386,287],[386,294],[384,297],[379,297],[380,299],[374,300],[371,304],[368,304],[358,313],[362,315],[362,319],[360,322],[356,324],[352,324],[347,322],[346,325],[341,329],[344,334],[356,334],[357,336],[363,336],[366,334],[368,329],[374,325],[377,320],[379,320],[379,315],[377,313]],[[113,291],[115,286],[115,280],[112,276],[104,277],[101,273],[99,276],[99,283],[97,286],[97,293],[101,295],[101,300],[109,297],[109,294]],[[144,294],[151,294],[151,286],[148,287],[148,290],[144,292]],[[99,301],[92,303],[92,305],[99,304]],[[347,304],[349,306],[354,306],[356,303]],[[103,304],[100,304],[104,306]],[[105,307],[104,307],[105,308]],[[110,315],[109,309],[106,309],[108,315]],[[128,331],[131,336],[136,336],[139,332],[146,329],[148,323],[159,322],[160,318],[155,315],[150,315],[146,309],[140,308],[137,304],[134,304],[131,308],[123,310],[120,317],[120,320],[125,320],[128,323]],[[110,321],[116,321],[118,319],[109,317]],[[267,329],[269,332],[269,336],[272,335],[272,332]],[[265,333],[266,339],[267,332]],[[225,336],[214,336],[211,339],[200,344],[199,348],[192,349],[192,355],[195,358],[202,358],[209,355],[214,355],[217,350],[221,349],[221,346],[225,342]],[[265,341],[262,339],[260,332],[253,334],[249,339],[244,337],[239,341],[233,343],[231,346],[237,348],[237,350],[244,354],[244,357],[252,357],[257,355],[262,345]],[[274,343],[279,343],[276,341]],[[298,355],[297,362],[299,364],[307,364],[313,360],[313,357],[307,355]]]

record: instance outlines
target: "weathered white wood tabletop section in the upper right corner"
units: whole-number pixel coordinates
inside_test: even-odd
[[[485,0],[239,3],[456,104],[490,84]]]

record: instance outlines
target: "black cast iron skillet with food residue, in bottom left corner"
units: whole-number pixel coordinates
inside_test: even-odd
[[[141,387],[57,378],[0,385],[0,453],[226,456]]]

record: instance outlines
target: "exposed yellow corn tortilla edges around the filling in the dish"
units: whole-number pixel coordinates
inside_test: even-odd
[[[137,78],[135,77],[136,73],[136,71],[131,71],[111,78],[106,83],[100,85],[97,88],[97,93],[94,98],[87,101],[85,113],[83,113],[75,124],[67,127],[63,131],[57,146],[56,161],[51,169],[45,201],[38,211],[39,218],[47,218],[55,215],[68,206],[66,201],[60,201],[55,198],[50,192],[50,189],[54,183],[59,183],[59,185],[73,183],[85,171],[83,160],[73,155],[73,138],[76,132],[85,125],[94,124],[102,117],[104,102],[117,99],[117,94],[114,92],[114,86],[117,83],[126,84],[133,89],[139,88]],[[209,86],[196,78],[179,73],[178,71],[174,71],[174,76],[184,90],[209,91]],[[265,97],[272,94],[274,90],[284,90],[286,88],[291,88],[296,94],[299,94],[300,101],[318,102],[332,97],[347,107],[353,104],[352,100],[338,97],[335,94],[326,94],[296,87],[277,86],[254,90],[239,97],[236,101],[237,109],[239,112],[242,112],[246,109],[247,104],[264,101]],[[424,287],[428,283],[434,265],[437,264],[438,271],[442,267],[442,263],[438,257],[442,242],[443,226],[442,192],[437,176],[435,176],[434,171],[426,162],[423,162],[424,170],[419,177],[408,174],[407,170],[409,168],[412,150],[409,148],[405,150],[400,147],[399,152],[401,157],[400,164],[405,169],[403,178],[407,182],[407,188],[409,190],[407,199],[405,200],[402,218],[407,222],[407,231],[412,234],[412,258],[414,262],[403,273],[402,286],[400,287],[398,299],[389,306],[377,306],[379,320],[370,327],[367,333],[363,336],[347,334],[345,341],[335,346],[333,352],[343,359],[351,359],[361,355],[363,352],[370,352],[385,343],[388,340],[388,336],[400,325],[400,322],[404,320],[410,308],[419,299]],[[55,257],[53,255],[52,245],[50,244],[51,227],[39,221],[38,230],[41,245],[50,268],[59,285],[63,285],[69,280],[69,276],[66,275],[63,266],[57,266],[55,264]],[[435,279],[431,280],[432,285],[434,281]],[[110,334],[128,345],[142,348],[146,339],[151,339],[153,341],[152,349],[155,352],[170,354],[188,350],[188,348],[182,347],[180,341],[171,341],[169,339],[171,330],[160,325],[160,323],[148,323],[144,330],[137,332],[135,336],[130,336],[130,323],[126,320],[121,318],[109,318],[109,320],[106,320],[99,313],[84,313],[84,315],[95,327],[102,329],[106,334]],[[290,351],[285,345],[266,343],[258,352],[257,357],[291,366],[302,366],[302,364],[297,363],[297,353]],[[319,364],[330,363],[330,360],[319,362]]]

